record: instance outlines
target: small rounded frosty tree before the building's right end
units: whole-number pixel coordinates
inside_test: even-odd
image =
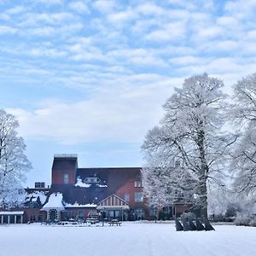
[[[143,191],[150,206],[161,209],[183,198],[191,203],[195,181],[186,168],[167,155],[150,154],[147,165],[143,167]],[[169,160],[171,160],[169,162]],[[171,177],[171,178],[170,178]]]

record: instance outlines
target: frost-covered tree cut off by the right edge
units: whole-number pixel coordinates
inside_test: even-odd
[[[236,143],[232,169],[237,171],[234,186],[239,192],[256,192],[256,73],[234,85],[231,117],[241,131]]]

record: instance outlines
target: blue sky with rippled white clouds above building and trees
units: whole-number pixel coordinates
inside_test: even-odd
[[[33,169],[143,166],[141,145],[189,76],[224,91],[256,70],[255,0],[0,0],[0,108],[20,121]]]

